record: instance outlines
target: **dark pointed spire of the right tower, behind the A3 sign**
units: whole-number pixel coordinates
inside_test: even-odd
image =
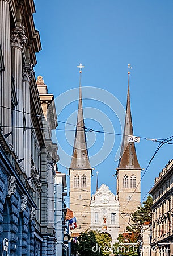
[[[141,169],[138,163],[134,142],[128,142],[128,136],[133,135],[132,114],[130,108],[130,64],[128,64],[128,95],[126,102],[126,115],[124,124],[121,158],[117,169]]]

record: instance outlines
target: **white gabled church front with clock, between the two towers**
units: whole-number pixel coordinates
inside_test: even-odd
[[[118,242],[119,200],[105,184],[92,195],[91,230],[108,233],[112,238],[112,244]]]

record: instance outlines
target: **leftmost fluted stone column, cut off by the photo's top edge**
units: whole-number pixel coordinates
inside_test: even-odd
[[[10,46],[10,11],[9,0],[0,0],[0,44],[2,48],[5,71],[1,76],[0,90],[0,125],[3,133],[9,133],[11,129],[11,46]],[[6,108],[3,108],[6,107]],[[10,141],[9,136],[7,139]]]

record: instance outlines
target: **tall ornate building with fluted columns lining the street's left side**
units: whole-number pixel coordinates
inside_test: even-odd
[[[0,10],[0,254],[54,255],[50,211],[58,156],[50,135],[57,123],[41,108],[33,72],[41,49],[35,6],[0,0]],[[54,110],[52,104],[47,113],[56,120]]]

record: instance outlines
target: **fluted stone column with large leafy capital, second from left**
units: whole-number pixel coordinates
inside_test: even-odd
[[[23,93],[22,93],[22,47],[26,43],[24,27],[16,27],[11,30],[11,69],[15,80],[15,90],[18,105],[14,109],[13,147],[18,159],[23,154]]]

